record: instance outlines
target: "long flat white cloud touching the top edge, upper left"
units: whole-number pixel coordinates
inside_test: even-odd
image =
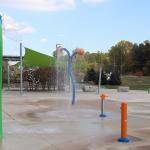
[[[75,0],[0,0],[0,4],[32,11],[59,11],[74,7]]]

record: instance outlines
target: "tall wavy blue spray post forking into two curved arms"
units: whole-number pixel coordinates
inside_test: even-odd
[[[72,85],[72,105],[75,104],[75,99],[76,99],[76,81],[75,81],[75,77],[74,77],[74,73],[73,73],[73,68],[72,68],[72,61],[73,58],[79,54],[79,55],[83,55],[84,51],[83,49],[76,49],[76,51],[71,55],[70,52],[66,49],[66,48],[58,48],[58,51],[65,51],[67,53],[68,56],[68,75],[70,77],[71,80],[71,85]]]

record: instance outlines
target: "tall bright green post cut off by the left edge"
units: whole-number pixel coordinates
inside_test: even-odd
[[[3,68],[3,33],[2,33],[2,16],[0,15],[0,139],[3,138],[2,125],[2,68]]]

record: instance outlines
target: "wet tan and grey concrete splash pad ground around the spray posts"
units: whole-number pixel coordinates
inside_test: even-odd
[[[113,92],[114,94],[114,92]],[[112,94],[112,96],[113,96]],[[117,93],[116,93],[117,94]],[[4,140],[2,150],[98,150],[148,148],[150,118],[134,115],[129,103],[129,135],[133,142],[120,144],[120,102],[107,101],[104,120],[95,93],[78,94],[71,106],[68,95],[17,92],[3,95]],[[111,93],[109,93],[111,95]],[[119,95],[120,96],[120,95]],[[148,102],[147,102],[148,103]],[[146,106],[148,106],[146,103]],[[150,103],[149,103],[150,104]],[[134,106],[134,107],[133,107]],[[144,106],[144,104],[142,105]],[[143,109],[143,107],[142,107]]]

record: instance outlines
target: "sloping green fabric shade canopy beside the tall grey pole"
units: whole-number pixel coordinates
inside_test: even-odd
[[[24,67],[53,67],[55,66],[55,58],[48,56],[32,49],[25,48],[25,56],[23,58]]]

